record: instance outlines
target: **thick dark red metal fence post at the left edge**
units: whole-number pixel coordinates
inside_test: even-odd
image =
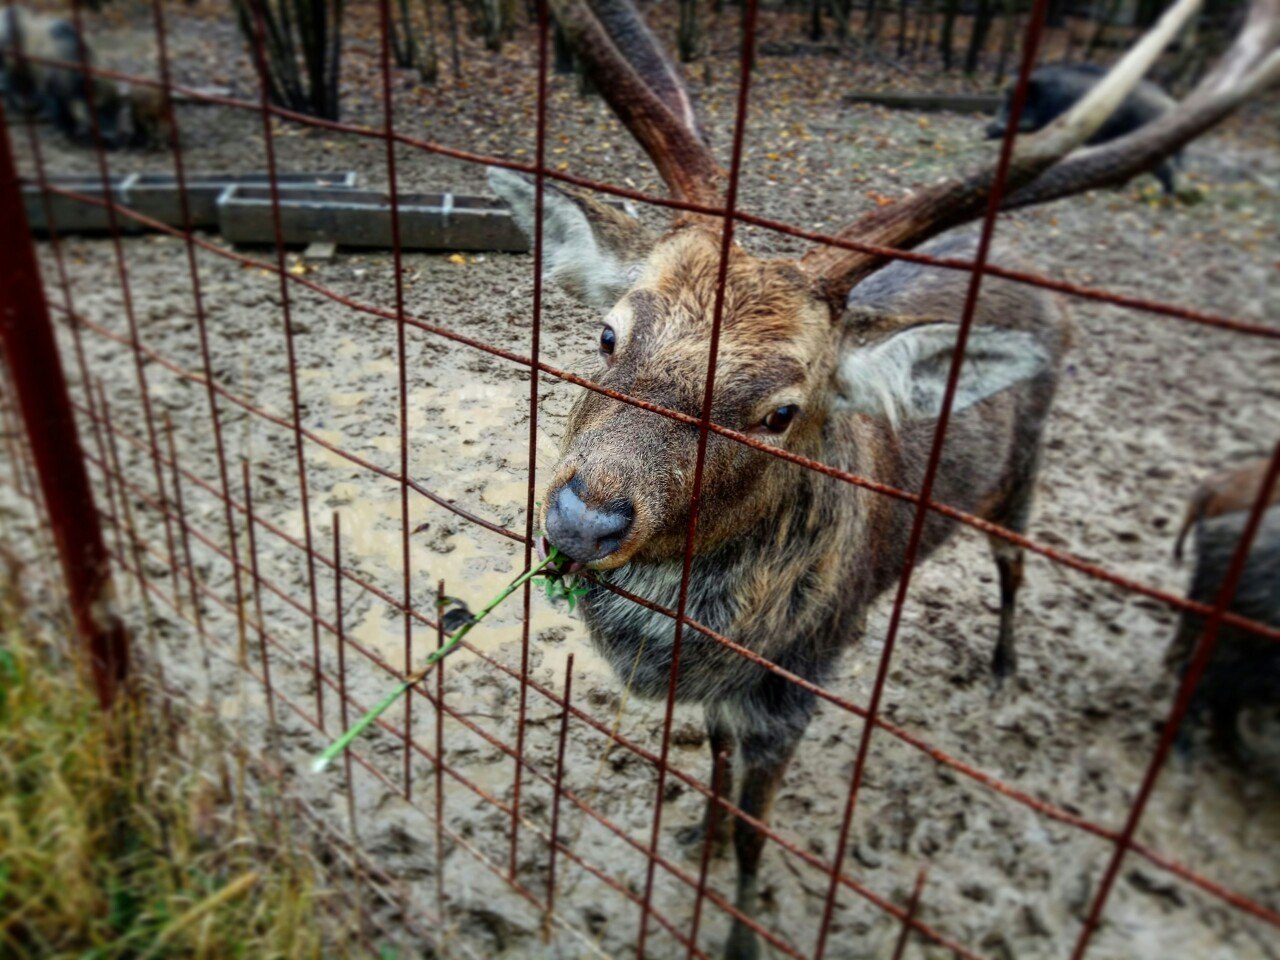
[[[128,672],[128,639],[114,609],[106,545],[6,133],[0,134],[0,343],[36,458],[76,630],[90,654],[99,700],[109,708]]]

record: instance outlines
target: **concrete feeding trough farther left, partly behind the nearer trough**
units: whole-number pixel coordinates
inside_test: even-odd
[[[50,177],[49,182],[77,193],[95,197],[102,196],[102,182],[97,177]],[[182,196],[178,178],[173,174],[142,173],[111,177],[111,192],[115,202],[131,210],[159,220],[169,227],[183,227]],[[298,188],[349,189],[356,186],[353,170],[334,173],[280,173],[275,182],[282,193]],[[271,177],[268,173],[244,174],[201,174],[187,175],[187,202],[191,210],[191,225],[196,229],[218,228],[218,200],[232,187],[259,186],[270,191]],[[23,184],[23,200],[27,205],[27,219],[37,233],[47,233],[45,205],[40,197],[40,187]],[[106,207],[87,204],[56,193],[50,195],[54,204],[54,223],[59,233],[105,233],[110,229]],[[141,233],[146,225],[127,214],[116,218],[123,233]]]

